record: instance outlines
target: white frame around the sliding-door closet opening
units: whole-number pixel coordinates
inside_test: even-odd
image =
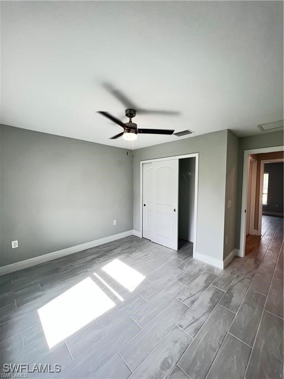
[[[195,186],[194,186],[194,226],[193,226],[193,258],[196,257],[196,234],[197,234],[197,206],[198,206],[198,158],[199,152],[195,152],[192,154],[184,154],[184,155],[173,155],[167,156],[165,158],[156,158],[156,159],[147,159],[140,161],[140,225],[141,230],[139,233],[139,237],[142,238],[142,230],[143,230],[143,163],[151,163],[158,162],[163,160],[172,160],[172,159],[183,159],[183,158],[195,158]]]

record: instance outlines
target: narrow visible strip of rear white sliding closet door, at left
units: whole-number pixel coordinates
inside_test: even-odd
[[[143,229],[142,236],[152,239],[153,234],[153,170],[152,163],[143,163]]]

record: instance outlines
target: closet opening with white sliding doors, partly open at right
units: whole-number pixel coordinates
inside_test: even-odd
[[[196,252],[198,153],[141,162],[142,237]]]

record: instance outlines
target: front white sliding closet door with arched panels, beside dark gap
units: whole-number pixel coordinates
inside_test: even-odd
[[[178,250],[178,159],[152,162],[151,240]]]

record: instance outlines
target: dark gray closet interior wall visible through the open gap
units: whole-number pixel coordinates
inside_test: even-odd
[[[179,159],[178,184],[178,238],[193,242],[195,175],[185,179],[185,172],[195,172],[195,158]]]

